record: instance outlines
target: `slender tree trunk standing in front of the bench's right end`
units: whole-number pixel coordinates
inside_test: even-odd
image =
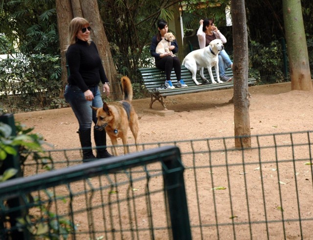
[[[248,92],[248,38],[245,0],[231,0],[234,47],[234,123],[235,147],[251,147],[249,92]]]

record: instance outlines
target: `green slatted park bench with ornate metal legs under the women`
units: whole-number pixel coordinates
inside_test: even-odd
[[[162,86],[162,84],[165,83],[165,72],[158,69],[158,68],[140,68],[138,69],[140,72],[144,86],[148,90],[148,92],[151,94],[151,101],[149,108],[152,108],[152,104],[155,101],[158,101],[161,103],[164,110],[167,110],[163,98],[166,98],[166,96],[173,96],[173,95],[179,95],[179,94],[188,94],[188,93],[198,93],[202,91],[210,91],[210,90],[220,90],[220,89],[226,89],[231,88],[234,86],[234,82],[224,82],[224,83],[217,83],[212,84],[211,78],[209,75],[209,72],[207,69],[204,69],[204,76],[205,78],[210,82],[210,84],[207,85],[201,85],[197,86],[195,82],[192,80],[192,74],[191,72],[185,68],[185,66],[181,66],[181,78],[184,80],[184,82],[188,85],[186,88],[175,88],[175,89],[157,89]],[[216,73],[215,69],[212,69],[214,79],[216,80]],[[229,77],[233,77],[233,72],[231,69],[226,70],[226,75]],[[197,80],[198,82],[202,82],[201,76],[199,74],[199,71],[197,72]],[[177,85],[177,79],[174,70],[171,73],[171,81],[173,83],[173,86],[176,87]],[[248,78],[248,85],[252,86],[256,84],[256,79],[254,77]]]

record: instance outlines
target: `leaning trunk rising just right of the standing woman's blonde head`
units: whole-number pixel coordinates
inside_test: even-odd
[[[92,28],[92,39],[98,48],[106,75],[111,82],[111,92],[114,93],[111,96],[113,99],[121,99],[123,95],[119,84],[118,74],[112,59],[110,43],[108,42],[100,17],[98,2],[97,0],[81,0],[81,7],[84,18],[90,23]]]

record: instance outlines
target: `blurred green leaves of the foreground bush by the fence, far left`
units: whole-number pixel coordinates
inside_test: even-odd
[[[52,169],[48,166],[47,161],[51,161],[50,157],[45,156],[43,145],[45,141],[43,137],[38,134],[31,133],[33,128],[26,128],[20,123],[16,123],[17,136],[12,136],[12,128],[0,122],[0,169],[1,163],[6,159],[8,154],[16,155],[19,152],[21,165],[25,160],[32,156],[33,161],[41,164],[45,169]],[[0,175],[0,182],[6,181],[14,176],[18,170],[15,168],[1,169],[4,170]],[[44,191],[48,197],[52,198],[53,193]],[[62,199],[62,197],[58,197]],[[74,224],[63,217],[57,216],[49,211],[49,204],[43,204],[38,197],[28,196],[27,199],[32,203],[32,206],[39,208],[40,216],[26,215],[17,219],[17,227],[21,230],[24,229],[33,238],[45,238],[59,240],[68,238],[68,234],[76,230]],[[65,199],[64,199],[65,201]],[[5,221],[8,221],[8,216]],[[48,223],[47,223],[48,221]],[[61,237],[61,238],[60,238]]]

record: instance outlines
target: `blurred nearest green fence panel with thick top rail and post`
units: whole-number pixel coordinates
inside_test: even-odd
[[[0,239],[191,239],[180,160],[164,146],[6,181]]]

